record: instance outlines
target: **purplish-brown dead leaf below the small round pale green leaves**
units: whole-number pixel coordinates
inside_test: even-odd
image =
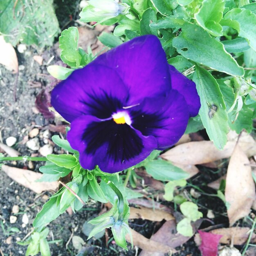
[[[181,215],[181,214],[180,214]],[[202,220],[197,220],[196,222],[194,222],[192,224],[193,227],[193,233],[195,233],[195,230],[198,229],[198,227],[200,227],[202,223]],[[164,245],[167,245],[169,247],[177,247],[180,246],[184,243],[186,243],[186,241],[188,241],[190,239],[190,237],[188,236],[182,236],[181,234],[177,233],[176,230],[176,222],[174,220],[169,220],[166,221],[164,223],[164,225],[162,225],[162,227],[155,233],[153,234],[153,236],[151,236],[151,238],[149,239],[150,241],[150,245],[151,243],[162,243]],[[149,247],[150,247],[149,245]],[[142,251],[139,254],[139,256],[164,256],[164,252],[157,250],[154,254],[152,254],[149,251],[149,248],[141,248]]]

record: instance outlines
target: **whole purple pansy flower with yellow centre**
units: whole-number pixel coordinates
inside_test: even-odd
[[[175,144],[200,100],[195,83],[147,35],[75,70],[52,91],[52,106],[71,123],[67,140],[81,166],[115,173]]]

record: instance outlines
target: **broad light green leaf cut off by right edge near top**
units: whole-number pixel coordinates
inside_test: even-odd
[[[238,31],[238,36],[249,40],[249,45],[256,51],[256,14],[247,9],[234,8],[227,12],[222,25]]]

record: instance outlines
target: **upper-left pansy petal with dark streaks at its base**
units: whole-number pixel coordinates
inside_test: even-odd
[[[128,89],[115,70],[91,64],[75,70],[52,91],[51,103],[67,121],[81,115],[111,117],[127,105]]]

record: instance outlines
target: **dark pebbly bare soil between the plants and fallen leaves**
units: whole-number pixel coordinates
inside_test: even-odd
[[[55,0],[56,7],[61,10],[57,11],[57,16],[60,21],[60,27],[64,28],[72,25],[78,15],[79,1],[71,1],[72,6],[67,4],[68,1]],[[68,8],[64,8],[69,6]],[[63,9],[64,8],[64,9]],[[72,15],[72,19],[70,18]],[[47,62],[52,56],[55,56],[54,62],[58,61],[58,56],[55,54],[53,48],[44,49],[43,51],[36,50],[33,47],[28,47],[24,53],[17,52],[19,62],[18,83],[16,84],[16,101],[14,100],[15,79],[16,75],[6,70],[0,65],[0,142],[5,143],[10,136],[17,138],[17,143],[14,146],[21,155],[38,155],[38,151],[29,150],[25,145],[28,139],[28,133],[32,128],[39,128],[40,133],[37,135],[40,146],[45,144],[42,137],[43,131],[49,124],[54,124],[54,120],[48,120],[38,112],[35,108],[35,99],[39,92],[45,88],[50,79],[47,76]],[[43,65],[39,65],[34,61],[34,55],[43,55]],[[53,63],[51,63],[53,64]],[[51,132],[54,135],[54,132]],[[58,153],[58,148],[54,148],[54,152]],[[19,168],[30,168],[38,171],[42,163],[36,163],[34,166],[28,166],[23,162],[9,163]],[[213,210],[215,218],[212,220],[205,220],[201,228],[209,225],[221,224],[221,227],[227,227],[228,219],[226,215],[225,204],[211,194],[216,194],[216,191],[206,186],[209,182],[218,179],[225,173],[225,168],[218,172],[215,168],[206,168],[199,166],[200,175],[193,177],[186,186],[186,191],[189,191],[193,186],[198,186],[204,191],[198,199],[193,199],[200,211],[204,213],[204,218],[207,216],[208,209]],[[21,186],[20,184],[11,180],[3,171],[0,171],[0,255],[1,256],[19,256],[25,255],[26,246],[21,246],[16,241],[24,240],[32,231],[32,222],[36,213],[42,209],[43,204],[47,198],[52,195],[52,192],[45,192],[40,195],[31,190]],[[173,204],[163,202],[171,207]],[[18,205],[19,212],[12,213],[12,207]],[[76,214],[63,213],[60,217],[49,224],[48,240],[53,242],[50,244],[50,249],[53,256],[74,256],[78,251],[70,241],[72,236],[80,236],[86,241],[87,236],[83,234],[82,227],[86,220],[97,216],[101,211],[102,205],[94,201],[89,201],[83,209]],[[29,222],[27,225],[22,223],[22,217],[27,215]],[[10,223],[10,216],[16,216],[15,223]],[[136,220],[131,222],[130,226],[136,231],[141,232],[147,238],[154,234],[161,223],[150,222],[146,220]],[[245,225],[243,222],[241,225]],[[111,236],[110,232],[109,235]],[[94,238],[86,241],[85,247],[87,254],[85,255],[127,255],[133,256],[136,254],[136,248],[129,251],[121,249],[110,238],[106,246],[106,239],[103,236],[101,239]],[[198,246],[195,245],[193,238],[181,247],[176,248],[179,252],[175,256],[200,256]],[[238,248],[241,249],[241,248]],[[2,250],[2,251],[1,251]],[[138,251],[140,252],[140,250]],[[136,254],[137,255],[137,254]]]

